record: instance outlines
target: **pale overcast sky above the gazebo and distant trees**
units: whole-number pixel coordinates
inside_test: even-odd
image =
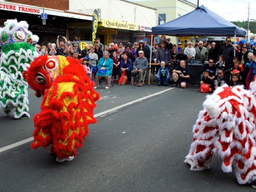
[[[130,0],[134,3],[138,0]],[[140,0],[143,1],[143,0]],[[163,0],[167,1],[167,0]],[[170,1],[170,0],[168,0]],[[188,0],[197,5],[197,0]],[[256,0],[199,0],[199,6],[204,5],[207,9],[220,15],[229,21],[243,21],[248,19],[248,5],[250,2],[249,19],[256,20]],[[256,21],[255,21],[256,22]]]

